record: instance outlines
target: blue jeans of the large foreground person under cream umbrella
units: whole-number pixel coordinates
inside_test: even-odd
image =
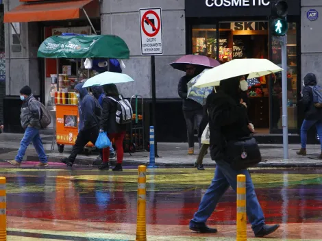
[[[214,173],[214,179],[210,187],[203,195],[199,209],[193,216],[191,222],[205,224],[208,218],[214,212],[219,199],[232,186],[232,189],[236,192],[237,175],[243,174],[246,176],[246,210],[249,223],[254,233],[258,233],[265,225],[265,218],[262,212],[262,207],[258,203],[258,199],[253,187],[253,181],[248,170],[234,170],[230,167],[230,164],[219,160],[216,161],[216,170]]]

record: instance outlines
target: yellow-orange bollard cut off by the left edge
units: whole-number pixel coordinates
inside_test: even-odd
[[[7,240],[7,204],[5,201],[5,177],[0,177],[0,241]]]

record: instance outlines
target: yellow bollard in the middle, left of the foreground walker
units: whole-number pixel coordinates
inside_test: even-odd
[[[136,220],[136,241],[147,240],[147,223],[145,222],[147,167],[138,166],[138,217]]]

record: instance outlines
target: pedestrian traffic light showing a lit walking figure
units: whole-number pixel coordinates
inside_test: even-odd
[[[284,36],[288,30],[286,15],[288,13],[287,0],[271,1],[271,31],[275,36]]]

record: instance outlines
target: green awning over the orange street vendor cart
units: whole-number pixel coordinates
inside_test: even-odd
[[[113,35],[51,36],[38,49],[39,58],[129,59],[129,48]]]

